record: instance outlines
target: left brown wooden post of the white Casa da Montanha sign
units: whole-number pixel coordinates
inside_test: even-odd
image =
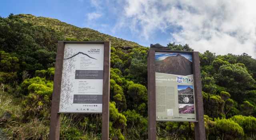
[[[61,88],[61,78],[62,78],[62,66],[63,66],[63,56],[64,56],[64,42],[58,42],[56,64],[55,64],[55,74],[54,74],[54,86],[52,93],[52,107],[51,107],[51,117],[50,117],[50,140],[60,139],[60,88]]]

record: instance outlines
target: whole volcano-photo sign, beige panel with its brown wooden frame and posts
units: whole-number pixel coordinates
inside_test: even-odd
[[[149,140],[156,140],[156,121],[194,122],[195,139],[206,139],[198,52],[148,51]]]

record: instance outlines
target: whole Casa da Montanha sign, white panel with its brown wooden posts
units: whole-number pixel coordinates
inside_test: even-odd
[[[50,140],[59,140],[60,113],[102,113],[102,140],[108,140],[109,80],[110,42],[58,42]]]

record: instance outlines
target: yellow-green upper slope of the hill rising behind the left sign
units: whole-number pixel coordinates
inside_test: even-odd
[[[19,14],[16,16],[23,21],[30,22],[34,25],[50,27],[56,32],[61,33],[65,39],[74,39],[78,41],[111,41],[112,47],[142,47],[138,43],[112,37],[90,28],[76,27],[58,19],[36,17],[31,14]]]

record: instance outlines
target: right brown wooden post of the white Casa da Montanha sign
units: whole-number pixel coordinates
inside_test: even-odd
[[[103,93],[102,93],[102,140],[109,136],[109,81],[110,81],[110,42],[104,42]]]

